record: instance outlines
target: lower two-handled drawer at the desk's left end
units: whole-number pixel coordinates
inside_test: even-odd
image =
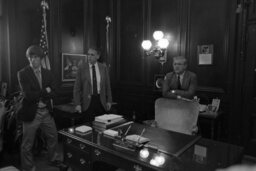
[[[64,145],[64,161],[67,165],[77,170],[90,170],[90,153],[83,152],[71,145]]]

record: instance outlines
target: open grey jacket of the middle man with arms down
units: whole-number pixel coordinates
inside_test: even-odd
[[[98,62],[100,71],[100,101],[102,106],[107,110],[107,102],[112,102],[110,79],[108,68],[105,64]],[[74,103],[81,105],[82,110],[86,111],[91,102],[92,83],[90,76],[89,63],[83,63],[77,71],[76,82],[74,85]]]

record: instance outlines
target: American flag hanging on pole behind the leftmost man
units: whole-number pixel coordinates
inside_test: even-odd
[[[49,6],[45,0],[41,2],[41,6],[43,8],[42,14],[42,25],[41,25],[41,36],[39,46],[44,51],[44,57],[41,60],[42,67],[46,69],[51,69],[50,61],[48,58],[48,37],[47,37],[47,21],[46,21],[46,9],[49,9]]]

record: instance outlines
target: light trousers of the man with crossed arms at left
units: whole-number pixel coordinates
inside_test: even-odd
[[[57,154],[58,133],[53,117],[49,111],[38,109],[36,116],[31,122],[23,122],[23,137],[21,144],[21,167],[22,170],[35,169],[32,147],[37,129],[40,128],[46,137],[49,162],[59,159]]]

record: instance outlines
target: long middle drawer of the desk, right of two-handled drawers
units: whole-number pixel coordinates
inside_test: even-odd
[[[150,168],[150,166],[143,166],[141,164],[123,159],[111,153],[99,150],[92,149],[92,160],[93,161],[103,161],[114,166],[120,167],[129,171],[153,171],[154,169]]]

